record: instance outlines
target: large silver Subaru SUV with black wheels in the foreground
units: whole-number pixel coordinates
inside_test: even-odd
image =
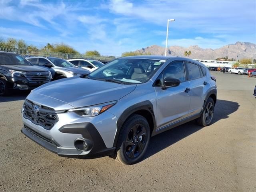
[[[33,90],[22,108],[22,132],[59,156],[134,164],[151,136],[194,119],[201,126],[212,122],[215,81],[188,58],[118,58]]]

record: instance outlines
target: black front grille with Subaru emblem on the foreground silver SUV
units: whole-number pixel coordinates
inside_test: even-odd
[[[23,105],[23,117],[47,130],[50,130],[59,120],[54,109],[42,105],[38,106],[27,99]]]

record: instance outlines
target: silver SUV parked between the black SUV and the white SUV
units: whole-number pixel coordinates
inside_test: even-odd
[[[33,65],[39,65],[53,69],[53,80],[90,73],[89,70],[78,68],[77,66],[74,66],[72,63],[68,62],[67,60],[58,57],[33,56],[27,57],[26,59]]]

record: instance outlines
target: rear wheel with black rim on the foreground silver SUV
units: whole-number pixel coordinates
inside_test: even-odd
[[[206,101],[206,105],[201,116],[197,119],[197,122],[200,126],[208,126],[212,122],[214,115],[214,101],[211,97]]]

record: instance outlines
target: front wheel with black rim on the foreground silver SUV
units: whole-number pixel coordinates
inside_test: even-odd
[[[131,165],[144,156],[150,140],[150,128],[147,120],[134,114],[123,124],[114,158],[122,164]]]

